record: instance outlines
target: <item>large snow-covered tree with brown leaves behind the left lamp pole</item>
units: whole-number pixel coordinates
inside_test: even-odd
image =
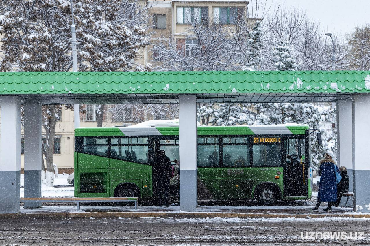
[[[139,0],[73,1],[80,71],[143,70],[134,58],[148,44],[146,5]],[[145,23],[145,24],[144,24]],[[0,5],[0,71],[69,71],[71,9],[68,0],[4,0]],[[146,65],[150,68],[150,65]],[[53,90],[53,86],[45,88]],[[68,88],[66,88],[68,91]],[[46,166],[53,172],[55,112],[43,106]],[[53,185],[53,182],[49,182]]]

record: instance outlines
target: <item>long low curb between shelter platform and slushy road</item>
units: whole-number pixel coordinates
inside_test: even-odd
[[[80,212],[80,213],[3,213],[0,219],[68,219],[68,218],[131,218],[160,217],[174,219],[196,218],[240,218],[240,219],[270,219],[270,218],[370,218],[370,214],[285,214],[285,213],[223,213],[223,212]]]

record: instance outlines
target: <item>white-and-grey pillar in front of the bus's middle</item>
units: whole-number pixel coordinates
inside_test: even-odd
[[[195,95],[179,95],[180,209],[194,212],[198,205],[198,136]]]

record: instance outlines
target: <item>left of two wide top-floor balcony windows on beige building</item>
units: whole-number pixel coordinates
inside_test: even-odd
[[[206,23],[208,21],[208,7],[177,7],[176,23]]]

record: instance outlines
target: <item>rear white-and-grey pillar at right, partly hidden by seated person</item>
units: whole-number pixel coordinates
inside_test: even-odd
[[[352,101],[337,101],[337,163],[347,168],[349,176],[349,191],[353,192],[352,164]],[[347,198],[342,197],[340,206],[344,206]],[[349,200],[347,206],[352,206]]]

